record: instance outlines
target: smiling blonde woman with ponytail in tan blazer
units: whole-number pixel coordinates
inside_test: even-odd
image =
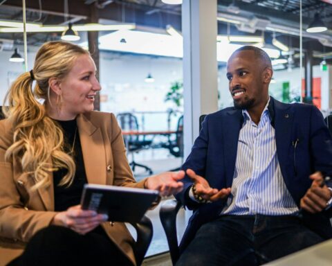
[[[124,224],[80,208],[84,184],[158,189],[160,195],[182,189],[183,172],[134,181],[115,116],[93,112],[101,89],[95,71],[80,46],[48,42],[33,70],[8,91],[0,121],[0,265],[31,239],[13,265],[29,265],[31,258],[33,265],[136,265]]]

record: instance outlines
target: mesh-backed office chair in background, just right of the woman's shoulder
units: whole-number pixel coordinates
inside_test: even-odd
[[[122,130],[137,131],[139,129],[137,117],[131,113],[120,113],[116,116],[116,118],[118,119]],[[145,136],[139,135],[123,136],[123,139],[128,152],[131,152],[132,154],[132,161],[131,163],[129,163],[129,166],[131,166],[133,172],[135,171],[135,168],[137,166],[144,168],[145,170],[147,170],[147,172],[149,172],[149,175],[152,175],[153,171],[151,168],[143,164],[136,163],[133,157],[134,152],[139,152],[140,150],[148,148],[151,145],[152,140],[145,140]]]

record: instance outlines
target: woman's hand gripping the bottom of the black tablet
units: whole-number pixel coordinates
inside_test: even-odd
[[[98,227],[101,222],[107,221],[105,214],[98,214],[95,211],[82,210],[80,205],[68,208],[67,211],[57,213],[53,218],[53,225],[68,227],[73,231],[85,235]]]

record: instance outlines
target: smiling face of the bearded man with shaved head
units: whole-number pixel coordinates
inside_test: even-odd
[[[227,64],[227,78],[234,107],[250,109],[266,102],[268,87],[264,85],[264,62],[256,58],[255,52],[244,50],[232,54]],[[266,83],[266,82],[265,82]]]

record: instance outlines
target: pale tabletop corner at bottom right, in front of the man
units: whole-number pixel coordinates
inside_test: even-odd
[[[277,247],[276,247],[277,249]],[[327,240],[313,247],[302,249],[284,258],[279,258],[266,266],[331,266],[332,240]]]

